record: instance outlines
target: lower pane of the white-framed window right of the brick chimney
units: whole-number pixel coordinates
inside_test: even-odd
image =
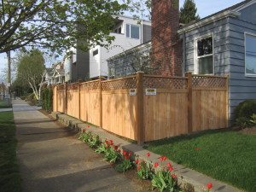
[[[213,74],[212,56],[207,56],[198,59],[199,74]]]

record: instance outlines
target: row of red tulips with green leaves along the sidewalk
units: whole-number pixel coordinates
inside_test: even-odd
[[[147,154],[149,161],[140,160],[134,154],[121,150],[118,145],[114,145],[112,140],[101,141],[98,136],[93,135],[91,131],[86,131],[86,129],[79,135],[79,139],[84,143],[88,143],[91,148],[95,148],[97,154],[102,154],[103,160],[116,164],[115,170],[118,172],[127,172],[131,168],[135,168],[137,170],[137,178],[151,180],[151,190],[158,189],[161,192],[180,191],[177,186],[177,176],[173,172],[171,163],[166,163],[166,157],[160,158],[160,164],[158,162],[150,162],[150,153]]]

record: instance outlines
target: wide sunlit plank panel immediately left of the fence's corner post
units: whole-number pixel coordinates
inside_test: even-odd
[[[137,97],[129,90],[103,90],[102,128],[137,140],[136,108]]]

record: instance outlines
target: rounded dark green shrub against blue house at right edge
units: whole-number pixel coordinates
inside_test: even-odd
[[[246,100],[240,102],[235,109],[236,119],[246,117],[249,119],[253,113],[256,113],[256,100]]]

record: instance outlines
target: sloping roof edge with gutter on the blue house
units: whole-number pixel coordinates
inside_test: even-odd
[[[207,23],[212,22],[213,20],[219,20],[219,19],[222,19],[227,16],[236,17],[236,16],[240,15],[240,13],[236,12],[236,9],[239,9],[239,8],[245,6],[247,3],[256,3],[256,0],[246,0],[241,3],[237,3],[235,5],[230,6],[229,8],[218,11],[217,13],[208,15],[207,17],[204,17],[201,20],[196,20],[194,22],[191,22],[185,26],[182,26],[178,30],[178,33],[190,31],[190,30],[194,29],[195,27],[206,25]]]

